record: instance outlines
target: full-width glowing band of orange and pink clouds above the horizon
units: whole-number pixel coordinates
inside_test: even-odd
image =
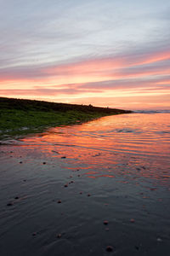
[[[151,96],[168,94],[169,61],[170,51],[164,50],[48,67],[15,67],[11,70],[8,67],[0,70],[0,93],[2,96],[48,98],[63,102],[88,101],[88,104],[96,105],[99,103],[97,98],[104,96],[120,101],[131,96],[133,101],[134,96],[147,96],[149,101]],[[105,106],[107,101],[99,105]]]

